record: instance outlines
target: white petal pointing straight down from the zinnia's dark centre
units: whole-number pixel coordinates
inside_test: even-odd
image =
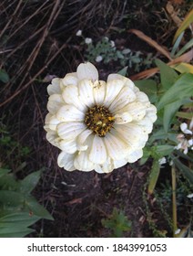
[[[104,139],[95,135],[89,154],[89,160],[95,164],[103,164],[106,159],[107,151],[104,144]]]

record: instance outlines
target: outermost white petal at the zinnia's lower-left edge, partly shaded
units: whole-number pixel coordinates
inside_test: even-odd
[[[76,170],[74,166],[74,154],[67,154],[66,152],[61,152],[57,157],[57,165],[59,167],[64,167],[66,171]]]

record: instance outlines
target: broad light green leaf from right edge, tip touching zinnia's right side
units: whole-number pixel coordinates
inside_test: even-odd
[[[161,97],[160,101],[157,103],[157,110],[162,109],[167,104],[181,101],[185,98],[190,98],[193,96],[193,75],[183,74],[175,84],[165,92]]]

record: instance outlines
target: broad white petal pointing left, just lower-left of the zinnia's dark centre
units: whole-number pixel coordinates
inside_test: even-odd
[[[65,141],[71,141],[86,129],[84,123],[60,123],[57,125],[58,135]]]

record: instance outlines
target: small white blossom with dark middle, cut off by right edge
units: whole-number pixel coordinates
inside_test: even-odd
[[[176,149],[183,149],[184,154],[188,154],[188,149],[193,149],[193,118],[189,123],[189,129],[187,123],[180,124],[180,130],[182,133],[179,133],[177,136],[179,144],[175,146]]]

